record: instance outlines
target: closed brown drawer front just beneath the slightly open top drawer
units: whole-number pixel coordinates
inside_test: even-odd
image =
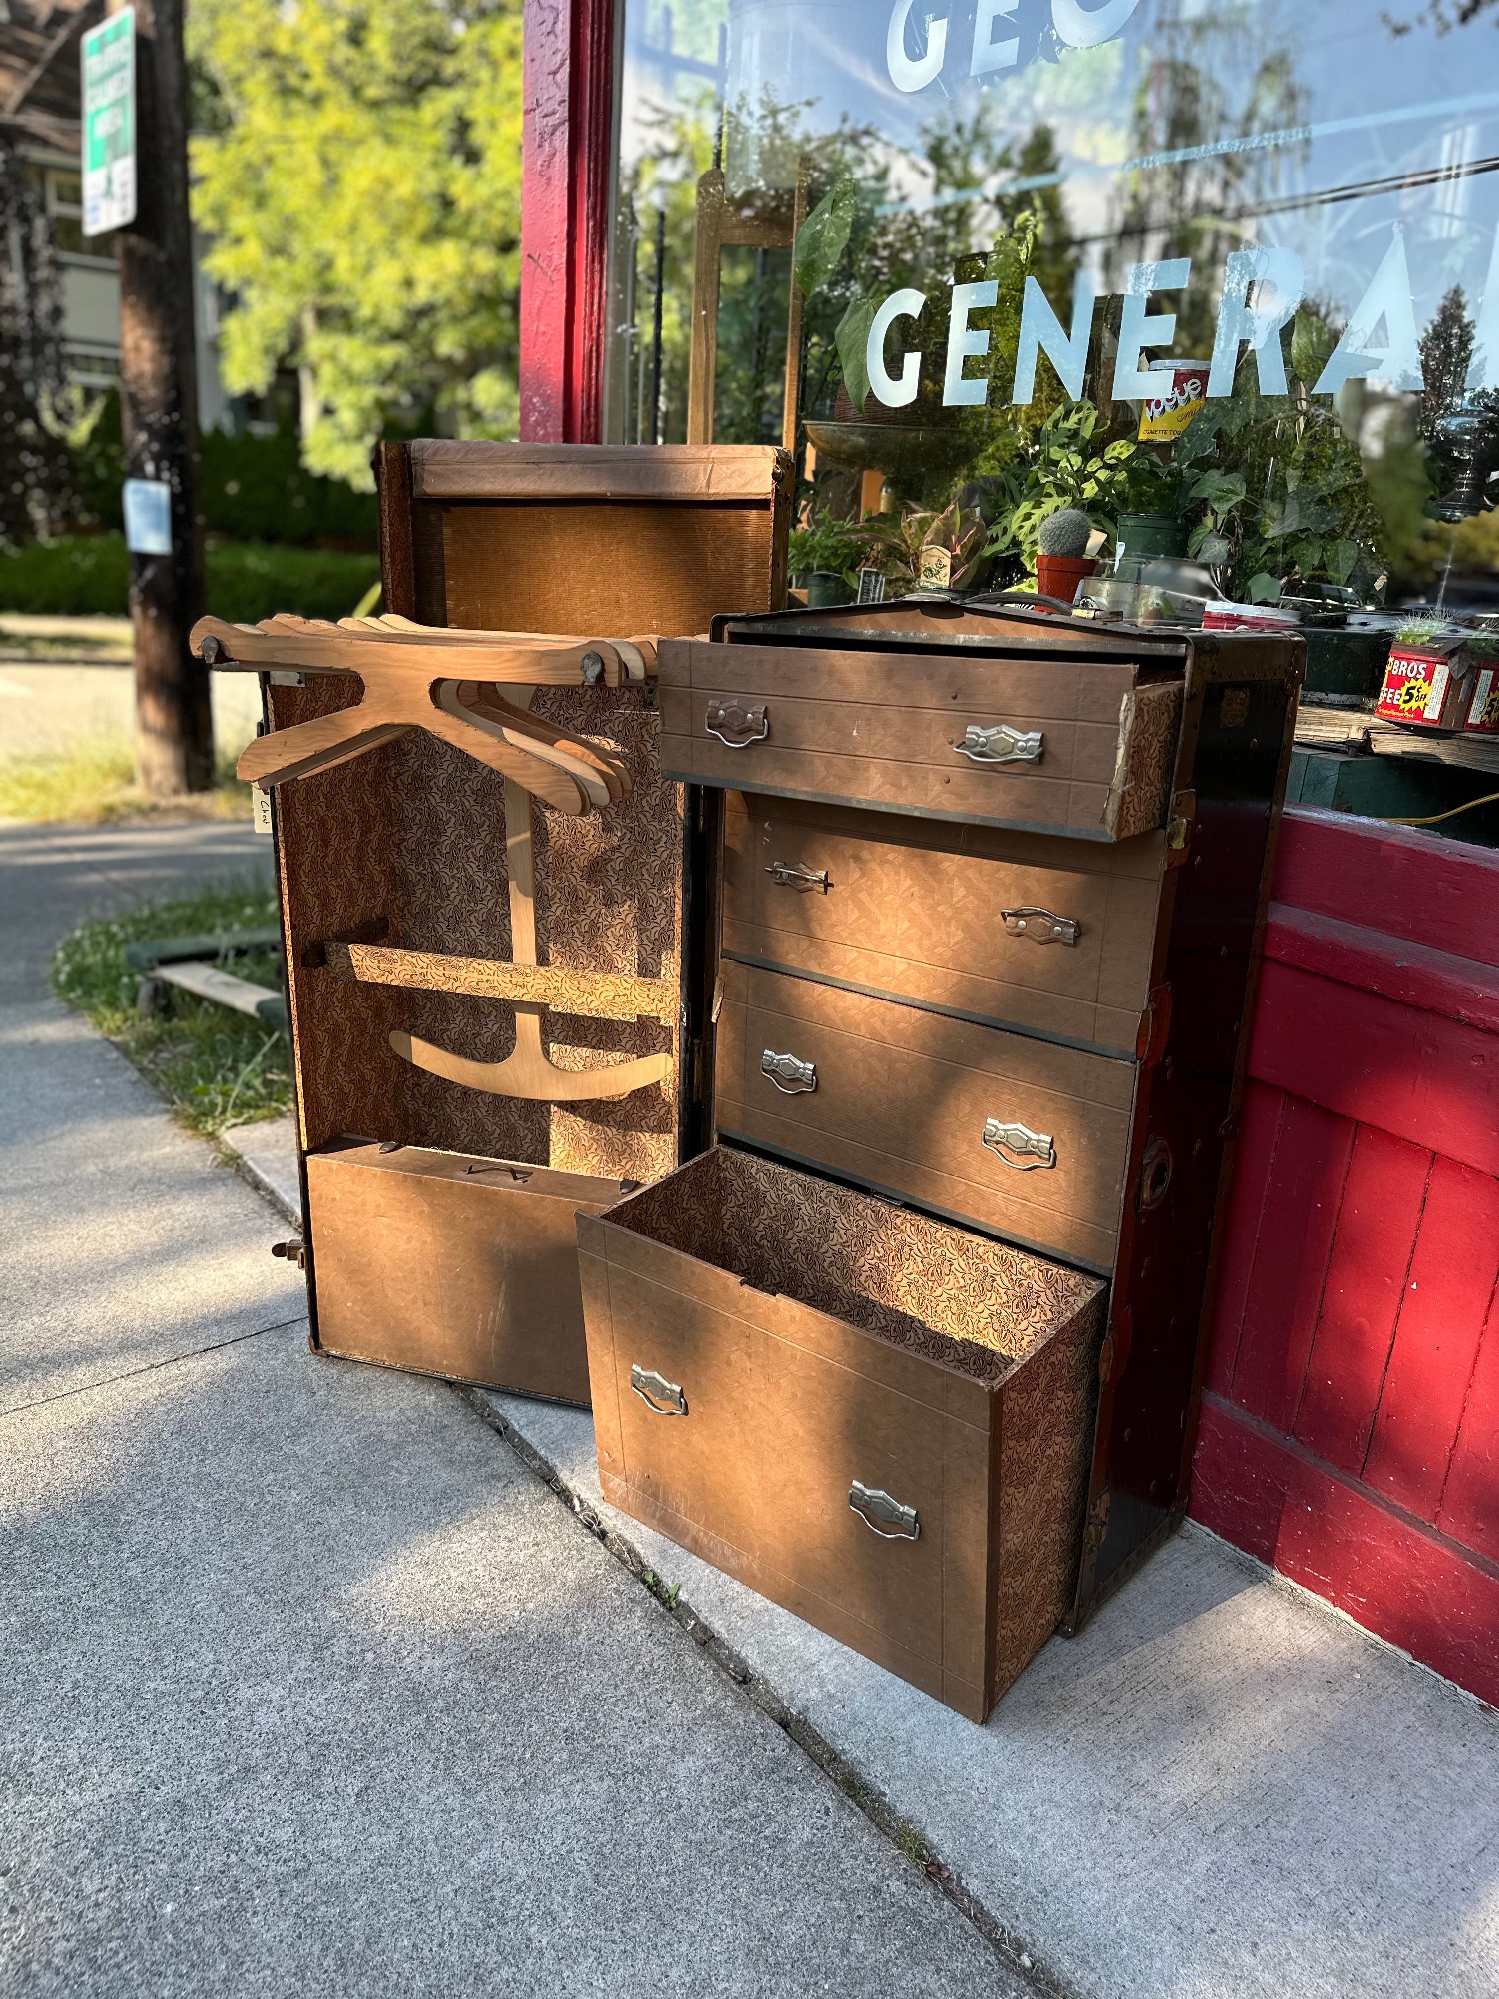
[[[728,952],[1133,1053],[1159,872],[1083,844],[1055,864],[1027,836],[1007,836],[1013,860],[953,854],[861,838],[853,812],[750,806],[726,816]]]

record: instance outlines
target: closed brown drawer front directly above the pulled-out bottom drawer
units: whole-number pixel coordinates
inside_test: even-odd
[[[722,1129],[1111,1261],[1133,1063],[734,964],[724,994]],[[765,1073],[767,1051],[811,1065],[813,1087]],[[1015,1131],[999,1149],[983,1141],[991,1119]]]

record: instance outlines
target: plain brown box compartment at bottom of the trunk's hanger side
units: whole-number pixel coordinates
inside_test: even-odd
[[[574,1215],[628,1185],[422,1145],[310,1153],[318,1345],[586,1405]]]

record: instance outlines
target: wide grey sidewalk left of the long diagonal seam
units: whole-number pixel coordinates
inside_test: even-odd
[[[0,830],[0,1989],[1007,1995],[452,1389],[46,996],[238,828]]]

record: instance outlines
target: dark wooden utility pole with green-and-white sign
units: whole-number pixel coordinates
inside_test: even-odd
[[[132,480],[170,488],[172,552],[130,558],[136,768],[154,798],[214,784],[208,668],[188,650],[204,614],[202,450],[188,220],[182,0],[134,0],[138,210],[120,230],[120,416]],[[122,12],[124,0],[108,0]]]

